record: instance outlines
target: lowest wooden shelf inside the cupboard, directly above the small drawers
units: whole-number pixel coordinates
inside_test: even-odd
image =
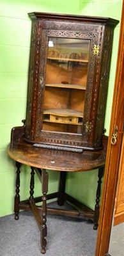
[[[58,116],[77,116],[77,117],[83,117],[82,111],[77,111],[75,109],[45,109],[43,111],[44,115],[50,114],[50,115],[58,115]]]

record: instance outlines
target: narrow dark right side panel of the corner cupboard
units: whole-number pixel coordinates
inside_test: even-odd
[[[113,28],[105,27],[104,47],[101,60],[100,90],[98,95],[97,122],[95,131],[94,145],[98,147],[102,141],[102,133],[104,129],[105,107],[107,101],[107,89],[109,83],[109,71],[111,64]]]

